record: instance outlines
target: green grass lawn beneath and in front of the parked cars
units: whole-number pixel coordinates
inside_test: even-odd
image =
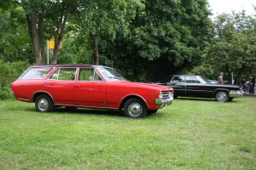
[[[255,104],[175,99],[129,119],[0,100],[0,169],[256,169]]]

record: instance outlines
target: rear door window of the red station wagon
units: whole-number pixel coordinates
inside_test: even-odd
[[[58,68],[50,77],[50,80],[74,80],[77,68]]]

